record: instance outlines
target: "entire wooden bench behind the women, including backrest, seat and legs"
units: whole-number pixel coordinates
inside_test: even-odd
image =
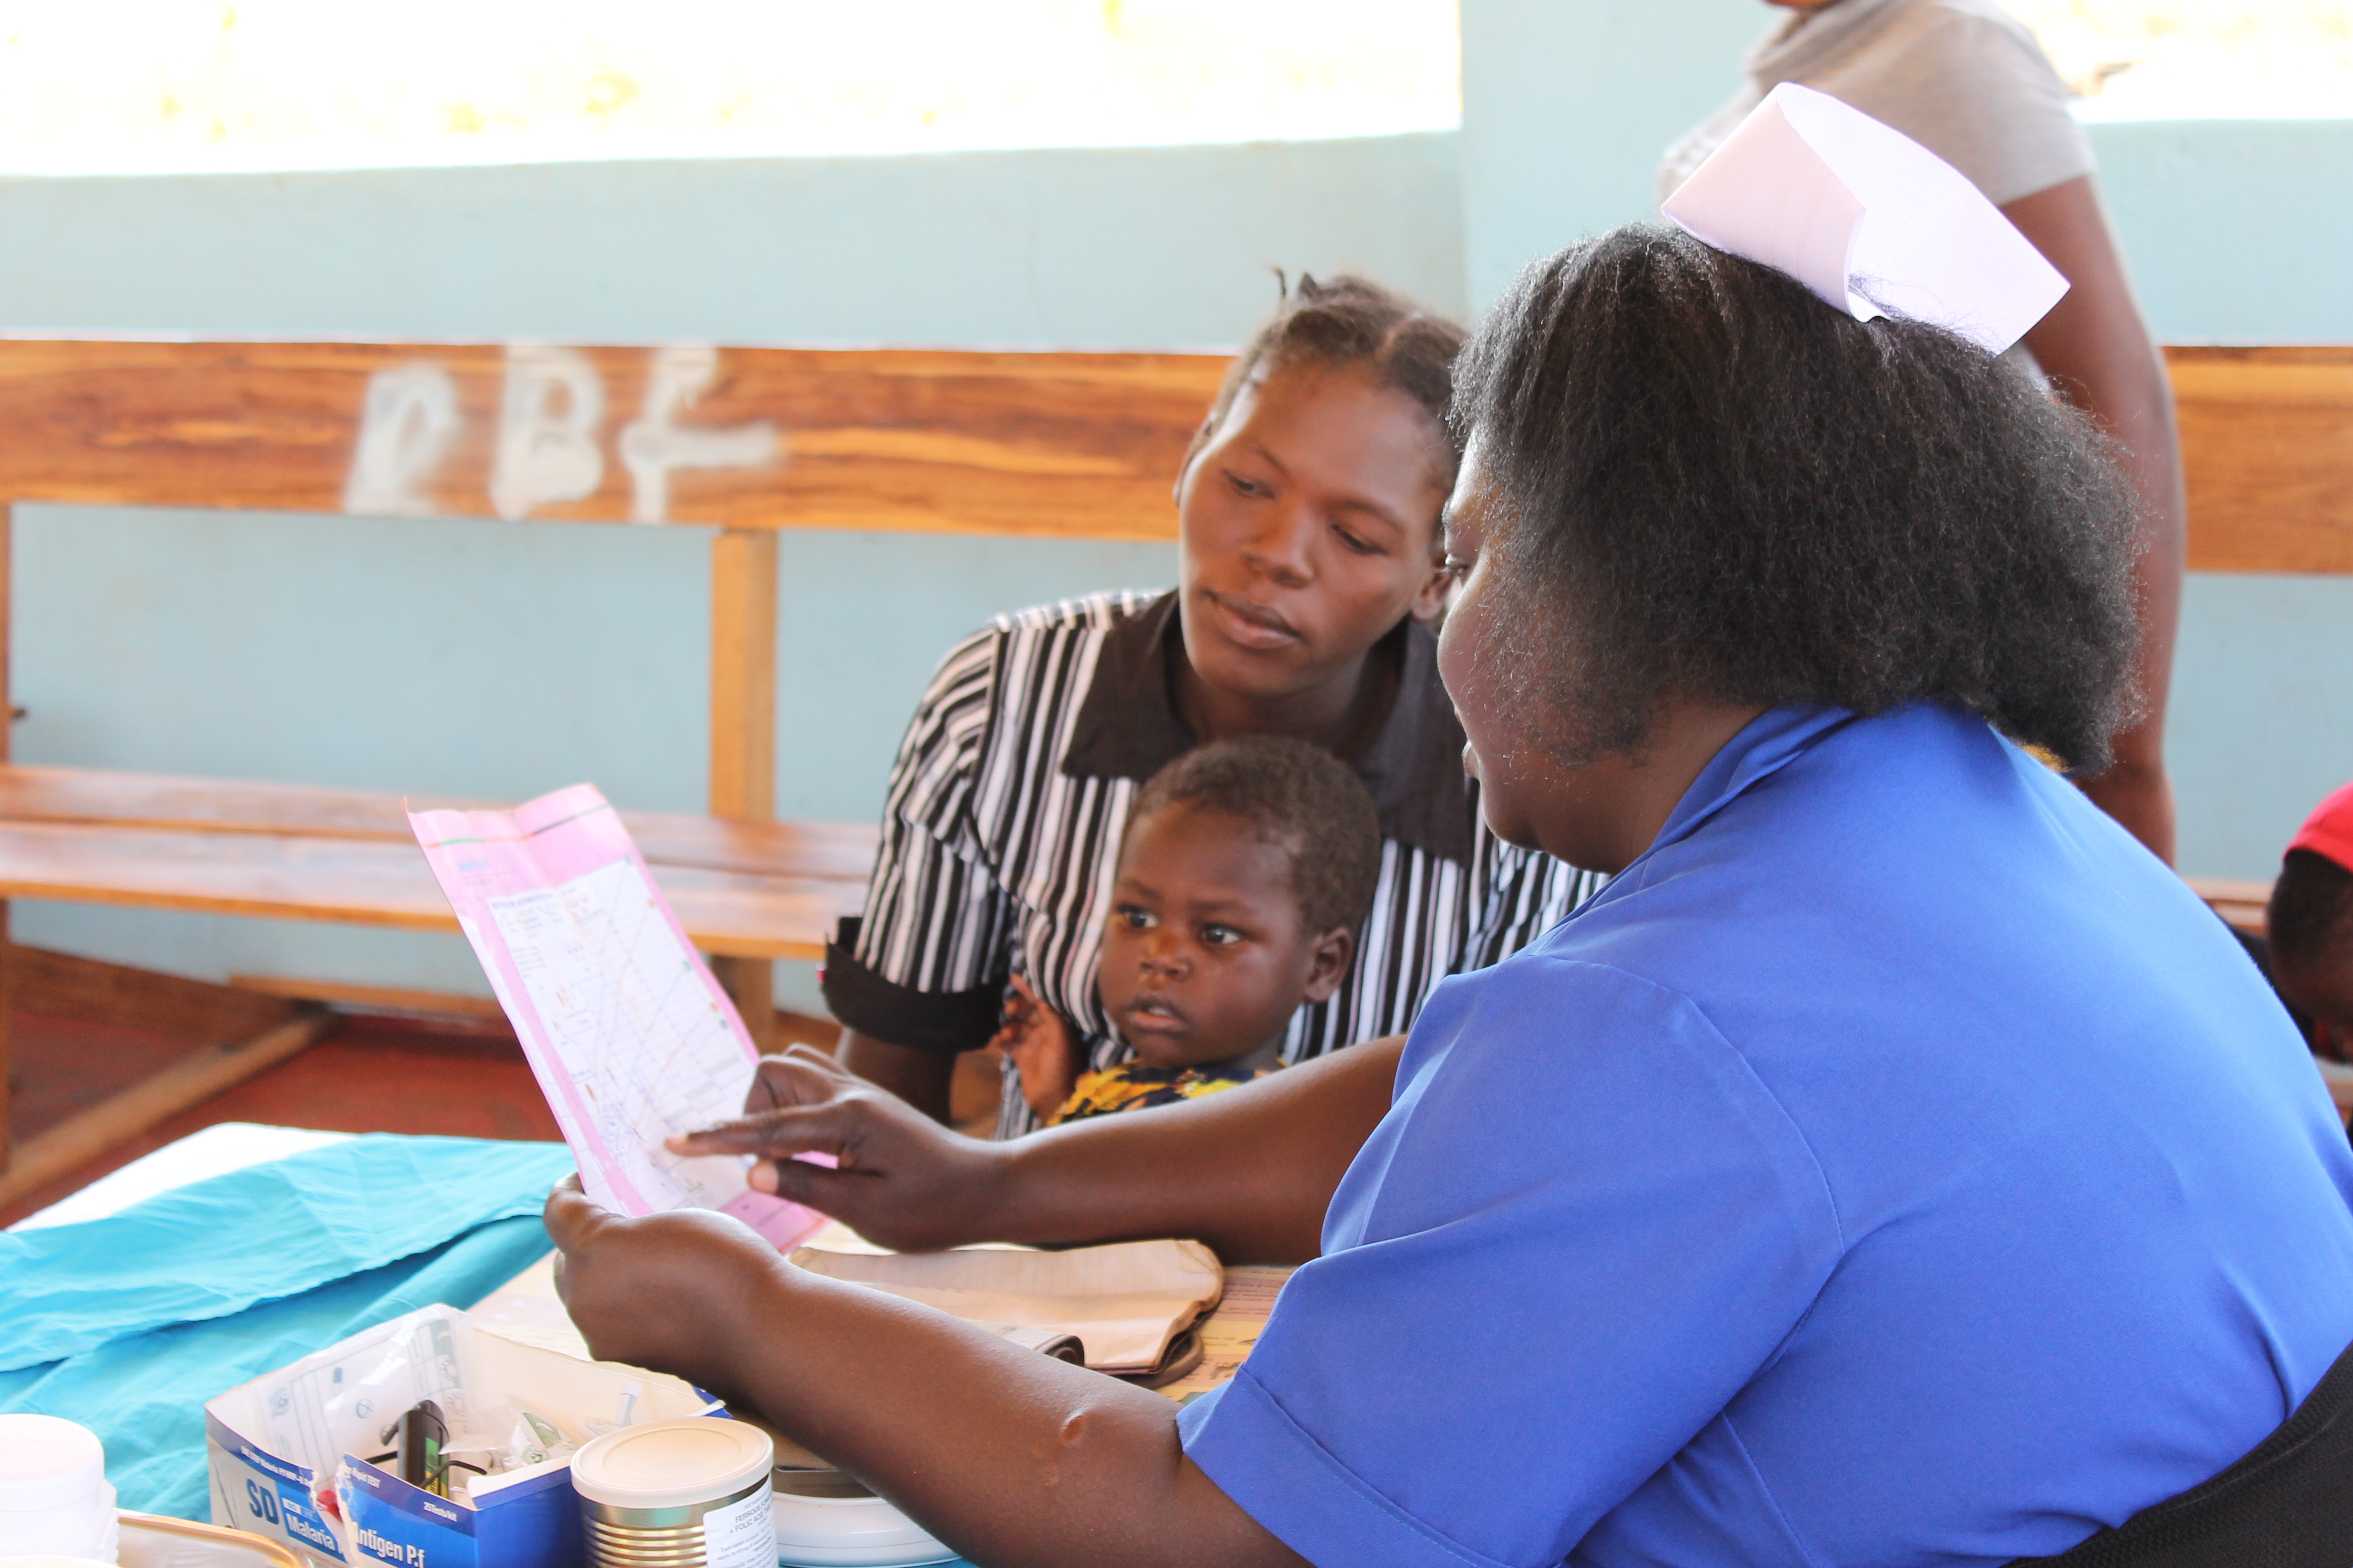
[[[0,339],[0,503],[715,527],[711,816],[628,820],[765,1032],[767,961],[821,952],[873,853],[864,823],[769,820],[776,529],[1172,538],[1169,477],[1224,369],[1162,353]],[[2184,348],[2172,369],[2191,567],[2353,571],[2353,350]],[[5,543],[0,515],[0,658]],[[5,741],[0,900],[452,929],[391,795],[7,766]],[[0,1201],[301,1048],[306,1027],[31,1140]],[[5,1065],[0,1009],[0,1135]]]

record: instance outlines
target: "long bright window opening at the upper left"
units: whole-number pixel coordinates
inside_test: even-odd
[[[0,172],[1372,136],[1454,0],[0,0]]]

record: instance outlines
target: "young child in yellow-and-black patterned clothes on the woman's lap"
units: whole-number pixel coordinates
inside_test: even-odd
[[[1132,1060],[1080,1072],[1071,1025],[1014,978],[995,1044],[1049,1126],[1233,1088],[1339,990],[1381,875],[1355,771],[1285,736],[1186,752],[1136,790],[1094,985]]]

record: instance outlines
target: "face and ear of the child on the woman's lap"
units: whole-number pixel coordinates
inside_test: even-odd
[[[1292,851],[1172,804],[1127,825],[1096,990],[1153,1067],[1249,1056],[1348,973],[1353,936],[1301,931]]]

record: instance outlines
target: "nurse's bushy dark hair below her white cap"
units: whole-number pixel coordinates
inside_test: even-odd
[[[1638,752],[1673,693],[1946,701],[2078,773],[2132,717],[2132,491],[1960,336],[1628,226],[1520,273],[1454,428],[1518,628],[1492,668],[1562,762]]]

